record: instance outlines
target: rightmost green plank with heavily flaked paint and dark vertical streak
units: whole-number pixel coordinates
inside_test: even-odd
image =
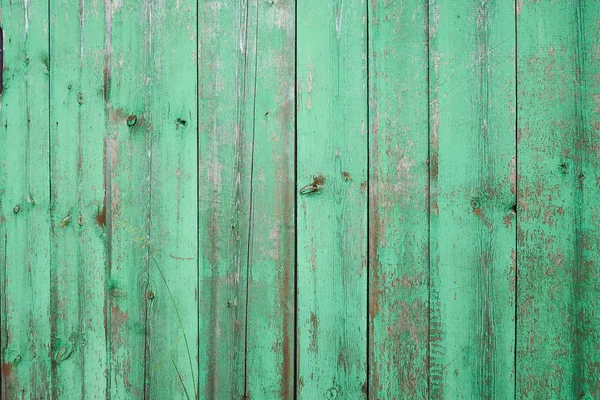
[[[521,398],[600,396],[600,5],[518,8]]]

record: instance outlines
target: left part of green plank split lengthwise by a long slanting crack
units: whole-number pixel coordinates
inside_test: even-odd
[[[199,2],[199,394],[209,399],[241,398],[245,386],[257,29],[251,4]]]

